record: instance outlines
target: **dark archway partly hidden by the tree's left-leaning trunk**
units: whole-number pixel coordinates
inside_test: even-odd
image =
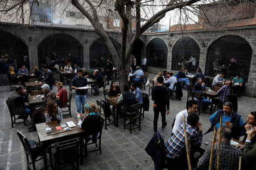
[[[113,38],[110,38],[112,44],[114,45],[115,50],[117,50],[118,56],[121,54],[121,45],[115,41]],[[93,42],[90,46],[90,68],[91,69],[101,69],[106,66],[106,59],[110,58],[112,61],[112,56],[109,52],[108,47],[104,39],[100,38]],[[114,61],[113,61],[114,64]]]

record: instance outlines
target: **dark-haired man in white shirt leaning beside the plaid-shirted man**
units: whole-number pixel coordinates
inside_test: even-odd
[[[187,109],[177,113],[174,118],[174,122],[172,123],[172,135],[174,135],[175,132],[177,131],[177,129],[179,128],[179,126],[181,124],[183,124],[183,114],[185,116],[185,121],[187,122],[188,114],[190,114],[192,112],[197,112],[197,102],[188,100],[187,101]]]

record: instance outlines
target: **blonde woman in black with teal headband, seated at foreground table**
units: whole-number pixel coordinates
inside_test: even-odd
[[[91,139],[93,142],[97,140],[101,131],[101,109],[93,103],[84,105],[86,116],[82,113],[77,113],[78,125],[85,132],[85,142],[88,143]]]

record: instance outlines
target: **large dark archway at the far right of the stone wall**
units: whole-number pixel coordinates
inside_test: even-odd
[[[205,75],[215,76],[225,72],[226,78],[232,78],[236,73],[241,73],[243,80],[247,82],[252,53],[250,44],[242,37],[232,35],[220,37],[208,48]],[[237,61],[236,68],[230,62],[233,57]]]

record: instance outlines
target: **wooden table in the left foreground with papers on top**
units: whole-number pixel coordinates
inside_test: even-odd
[[[68,121],[73,121],[76,127],[71,128],[71,130],[69,131],[65,131],[63,129],[56,130],[57,126],[63,125],[65,124],[65,122],[68,122]],[[46,128],[51,128],[52,129],[51,133],[46,133]],[[82,151],[84,149],[84,141],[83,141],[84,130],[79,128],[79,126],[77,125],[77,122],[73,120],[73,118],[66,118],[60,124],[57,124],[57,121],[36,124],[36,129],[38,131],[39,142],[41,143],[43,148],[45,169],[48,169],[47,155],[46,155],[47,147],[53,143],[63,142],[63,141],[67,141],[69,139],[75,139],[75,138],[80,138],[80,163],[83,164]]]

